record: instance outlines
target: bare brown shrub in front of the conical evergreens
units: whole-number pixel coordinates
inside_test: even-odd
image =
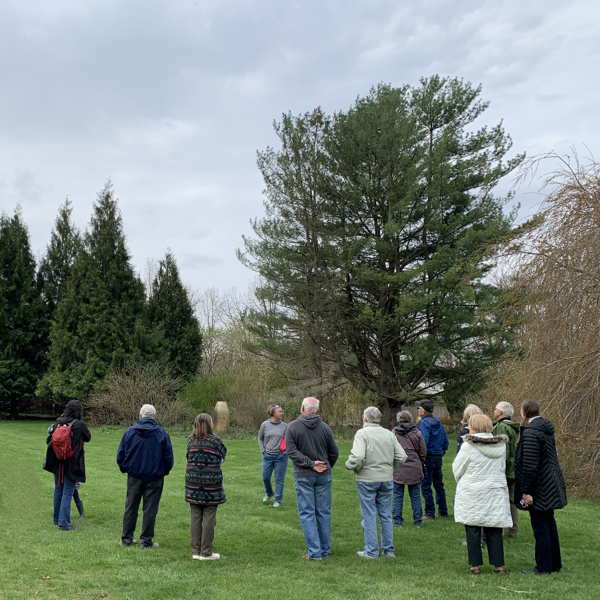
[[[160,362],[132,363],[110,371],[85,403],[86,416],[93,425],[128,427],[139,418],[142,404],[152,404],[163,425],[186,428],[190,407],[177,398],[183,380],[173,379]]]

